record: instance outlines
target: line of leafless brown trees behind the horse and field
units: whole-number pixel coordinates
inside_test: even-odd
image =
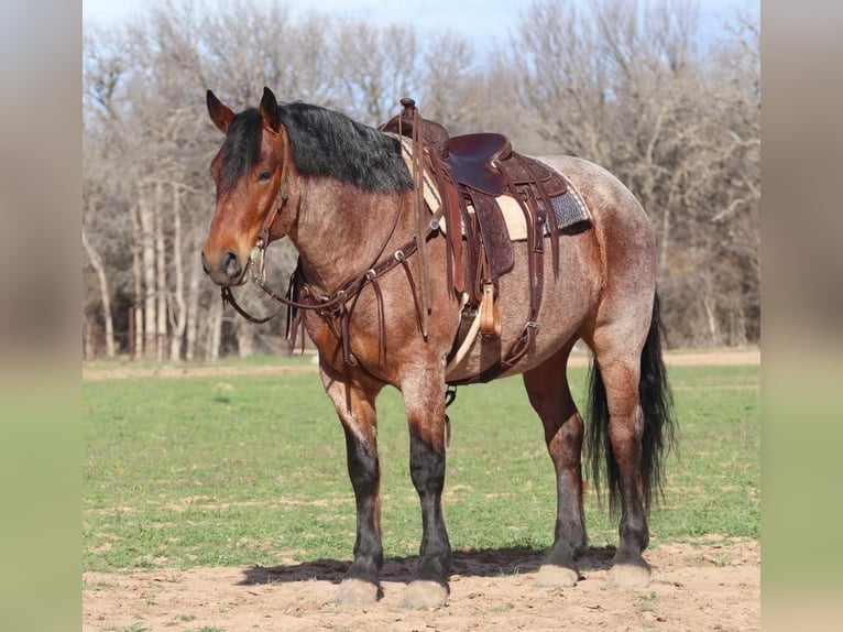
[[[284,2],[189,0],[84,33],[84,345],[214,359],[283,348],[283,323],[223,314],[199,252],[221,143],[214,89],[238,109],[283,100],[372,126],[404,96],[455,133],[500,131],[526,153],[566,153],[626,183],[656,228],[668,342],[756,344],[760,323],[760,59],[757,14],[700,28],[690,2],[538,0],[507,42],[477,33],[294,15]],[[283,285],[295,253],[270,250]],[[253,287],[239,296],[267,310]]]

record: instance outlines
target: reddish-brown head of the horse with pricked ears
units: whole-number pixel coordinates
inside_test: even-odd
[[[283,237],[293,221],[280,213],[292,167],[288,137],[269,88],[258,109],[237,115],[210,90],[206,98],[210,119],[226,140],[210,166],[217,203],[202,269],[217,285],[240,285],[247,281],[252,249]]]

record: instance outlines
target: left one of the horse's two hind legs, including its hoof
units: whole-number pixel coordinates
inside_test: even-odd
[[[533,408],[541,418],[545,443],[556,470],[554,545],[536,576],[536,586],[552,588],[577,584],[577,559],[589,545],[582,489],[583,423],[566,375],[569,353],[570,347],[524,373],[524,385]]]

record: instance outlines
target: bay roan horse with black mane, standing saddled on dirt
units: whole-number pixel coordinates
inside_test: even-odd
[[[420,233],[418,181],[402,157],[401,140],[319,106],[280,103],[269,88],[259,107],[238,113],[210,90],[206,101],[225,141],[210,165],[216,208],[201,252],[205,272],[225,301],[250,276],[266,290],[265,270],[255,268],[271,242],[286,237],[299,254],[292,284],[297,291],[269,292],[299,313],[344,431],[357,535],[336,599],[372,603],[383,596],[375,399],[390,385],[406,411],[409,471],[421,512],[418,559],[402,603],[446,606],[446,400],[452,384],[477,381],[522,335],[532,291],[527,246],[513,243],[512,270],[500,279],[500,335],[474,336],[460,362],[449,364],[463,305],[447,281],[447,240],[435,222]],[[536,585],[572,587],[580,578],[578,559],[589,548],[585,448],[593,483],[600,489],[605,478],[612,515],[618,508],[621,513],[609,581],[646,587],[648,514],[654,498],[664,495],[676,427],[661,352],[654,231],[634,195],[601,166],[573,156],[536,160],[563,174],[591,211],[587,226],[543,238],[558,240],[559,272],[544,280],[528,348],[495,375],[522,375],[556,472],[554,543]],[[544,248],[548,266],[551,250]],[[578,340],[592,358],[588,428],[566,374]]]

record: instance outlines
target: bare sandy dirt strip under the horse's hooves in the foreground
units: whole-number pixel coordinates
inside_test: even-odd
[[[84,632],[108,630],[760,630],[756,541],[664,544],[648,551],[646,589],[606,585],[611,548],[592,548],[573,588],[534,586],[537,552],[455,554],[448,606],[398,607],[412,559],[387,560],[383,599],[371,607],[331,599],[347,563],[274,568],[86,573]]]

